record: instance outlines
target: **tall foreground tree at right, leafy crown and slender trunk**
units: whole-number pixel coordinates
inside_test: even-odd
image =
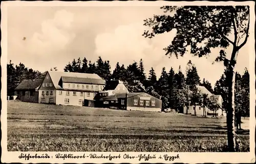
[[[145,31],[143,35],[152,38],[176,29],[174,40],[164,49],[166,55],[183,56],[190,47],[191,54],[202,57],[210,54],[212,48],[221,48],[217,61],[223,61],[228,72],[228,151],[236,151],[234,68],[238,52],[249,36],[249,6],[163,6],[161,9],[169,14],[154,15],[144,20],[144,25],[152,27],[153,31]],[[233,39],[230,39],[231,35]],[[225,48],[229,45],[232,52],[226,56]]]

